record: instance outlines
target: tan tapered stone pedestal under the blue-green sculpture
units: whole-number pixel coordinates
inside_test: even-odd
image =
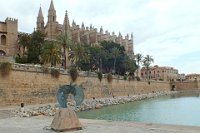
[[[81,130],[82,125],[73,109],[62,108],[54,116],[51,129],[55,131]]]

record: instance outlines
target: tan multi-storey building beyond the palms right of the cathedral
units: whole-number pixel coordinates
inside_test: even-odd
[[[150,67],[148,71],[143,67],[140,73],[140,77],[143,80],[148,79],[148,76],[150,80],[160,81],[176,81],[178,78],[178,70],[174,69],[173,67],[154,66]]]

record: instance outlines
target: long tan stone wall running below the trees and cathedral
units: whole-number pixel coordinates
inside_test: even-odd
[[[6,77],[0,76],[0,105],[41,104],[56,102],[56,92],[60,85],[70,84],[67,72],[60,71],[59,78],[41,72],[41,68],[13,65],[13,70]],[[167,82],[137,82],[120,78],[111,83],[104,78],[101,82],[94,73],[81,74],[77,84],[84,88],[85,98],[127,96],[150,92],[170,91]]]

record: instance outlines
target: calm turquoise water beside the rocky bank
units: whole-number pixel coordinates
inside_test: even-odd
[[[78,116],[86,119],[200,126],[200,95],[165,96],[79,112]]]

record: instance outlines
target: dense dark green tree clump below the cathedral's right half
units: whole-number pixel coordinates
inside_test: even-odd
[[[100,45],[87,46],[85,49],[89,60],[79,64],[81,70],[85,70],[87,65],[89,70],[124,75],[126,72],[133,73],[137,68],[135,61],[126,54],[120,44],[103,41]]]

